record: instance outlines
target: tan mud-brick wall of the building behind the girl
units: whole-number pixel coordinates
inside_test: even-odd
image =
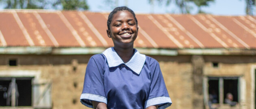
[[[52,81],[53,109],[88,109],[80,103],[85,69],[92,55],[0,55],[0,71],[40,71],[41,80]],[[243,76],[246,81],[245,105],[251,105],[253,56],[153,56],[161,67],[173,104],[168,109],[203,109],[203,76]],[[9,66],[16,59],[17,66]],[[213,68],[218,62],[219,68]],[[198,108],[197,108],[198,107]]]

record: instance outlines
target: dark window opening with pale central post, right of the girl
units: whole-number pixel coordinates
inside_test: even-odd
[[[225,103],[231,93],[233,101],[239,102],[239,77],[208,77],[208,96],[211,103]]]

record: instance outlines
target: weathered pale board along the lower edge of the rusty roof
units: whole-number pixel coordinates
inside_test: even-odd
[[[256,49],[238,48],[206,48],[206,49],[164,49],[164,48],[136,48],[141,54],[145,55],[256,55]],[[106,48],[94,47],[0,47],[2,55],[94,55],[102,53]]]

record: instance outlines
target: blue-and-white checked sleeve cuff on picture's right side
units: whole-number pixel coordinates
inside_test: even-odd
[[[145,101],[145,108],[158,105],[158,109],[165,109],[171,106],[171,103],[172,102],[170,97],[161,96]]]

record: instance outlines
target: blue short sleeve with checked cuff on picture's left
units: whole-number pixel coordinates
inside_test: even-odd
[[[80,102],[91,108],[93,108],[91,101],[98,101],[107,104],[102,79],[104,72],[102,63],[104,61],[99,61],[101,59],[97,59],[97,61],[95,58],[97,57],[91,57],[86,67],[84,87],[80,96]]]

